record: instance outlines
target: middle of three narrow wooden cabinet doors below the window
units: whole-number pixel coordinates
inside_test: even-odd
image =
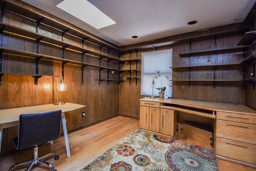
[[[154,132],[160,132],[160,109],[150,107],[149,108],[149,130]]]

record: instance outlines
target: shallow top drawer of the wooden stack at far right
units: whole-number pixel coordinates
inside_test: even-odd
[[[226,121],[241,122],[256,124],[256,116],[254,115],[244,115],[238,113],[227,113],[227,112],[216,112],[216,119],[222,119]]]

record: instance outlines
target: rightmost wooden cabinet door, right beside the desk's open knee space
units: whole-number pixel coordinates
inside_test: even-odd
[[[174,111],[169,109],[160,110],[160,133],[174,136],[176,129],[174,128]]]

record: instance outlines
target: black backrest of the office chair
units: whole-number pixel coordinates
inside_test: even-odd
[[[16,149],[33,147],[60,137],[61,110],[20,115]]]

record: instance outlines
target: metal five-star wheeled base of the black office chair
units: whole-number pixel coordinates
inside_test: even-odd
[[[50,155],[54,155],[54,159],[55,160],[58,160],[59,159],[59,156],[56,154],[56,153],[49,153],[47,155],[44,155],[42,157],[37,157],[37,154],[38,154],[38,146],[35,146],[33,148],[34,150],[34,153],[33,153],[33,159],[32,160],[29,160],[29,161],[24,161],[24,162],[21,162],[21,163],[17,163],[15,165],[13,165],[12,167],[10,167],[9,171],[12,171],[12,168],[13,167],[16,167],[16,166],[22,166],[22,165],[26,165],[26,164],[29,164],[31,163],[25,171],[29,171],[31,169],[31,167],[37,163],[41,163],[41,164],[44,164],[44,165],[48,165],[50,167],[50,169],[52,171],[57,171],[56,169],[54,169],[54,166],[52,165],[52,163],[48,163],[46,161],[42,161],[41,159],[43,159],[44,157],[48,157]]]

